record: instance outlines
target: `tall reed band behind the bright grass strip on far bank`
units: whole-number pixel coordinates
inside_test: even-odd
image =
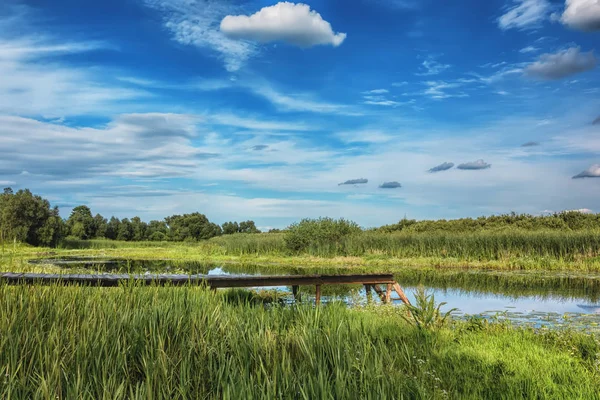
[[[211,239],[225,254],[306,254],[318,257],[368,256],[439,257],[502,260],[549,257],[578,260],[600,256],[598,231],[501,231],[477,233],[383,233],[366,231],[335,243],[310,241],[297,253],[286,247],[285,234],[229,235]]]

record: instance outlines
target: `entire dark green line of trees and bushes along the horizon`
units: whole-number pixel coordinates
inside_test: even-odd
[[[567,211],[543,216],[510,213],[479,218],[454,220],[422,220],[404,218],[391,225],[369,231],[391,232],[479,232],[505,230],[600,230],[600,214]],[[362,232],[358,224],[331,218],[304,219],[285,230],[290,248],[300,249],[316,239],[340,243],[343,237]],[[15,240],[34,246],[56,246],[64,238],[110,239],[122,241],[199,241],[235,233],[260,233],[254,221],[215,224],[201,213],[172,215],[163,220],[144,222],[139,217],[107,219],[93,215],[87,206],[75,207],[69,218],[62,219],[58,207],[28,189],[13,192],[4,189],[0,194],[0,240]]]

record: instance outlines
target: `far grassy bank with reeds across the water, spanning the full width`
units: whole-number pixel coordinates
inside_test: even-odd
[[[12,247],[4,259],[44,255],[95,255],[215,263],[286,264],[307,267],[400,269],[476,268],[600,272],[600,232],[500,231],[478,233],[362,232],[317,241],[302,251],[285,234],[225,235],[200,242],[66,240],[59,249]],[[18,263],[16,263],[18,264]]]

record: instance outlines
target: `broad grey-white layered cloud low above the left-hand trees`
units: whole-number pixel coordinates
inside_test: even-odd
[[[44,180],[185,176],[218,156],[185,114],[123,114],[103,128],[70,128],[0,116],[0,170]]]

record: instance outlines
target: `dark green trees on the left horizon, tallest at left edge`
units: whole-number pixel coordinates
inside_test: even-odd
[[[73,208],[62,219],[58,207],[28,189],[0,195],[0,240],[15,240],[34,246],[56,246],[62,239],[110,239],[123,241],[198,241],[234,233],[260,233],[254,221],[210,222],[201,213],[172,215],[163,220],[142,221],[139,217],[107,219],[93,215],[88,206]]]

